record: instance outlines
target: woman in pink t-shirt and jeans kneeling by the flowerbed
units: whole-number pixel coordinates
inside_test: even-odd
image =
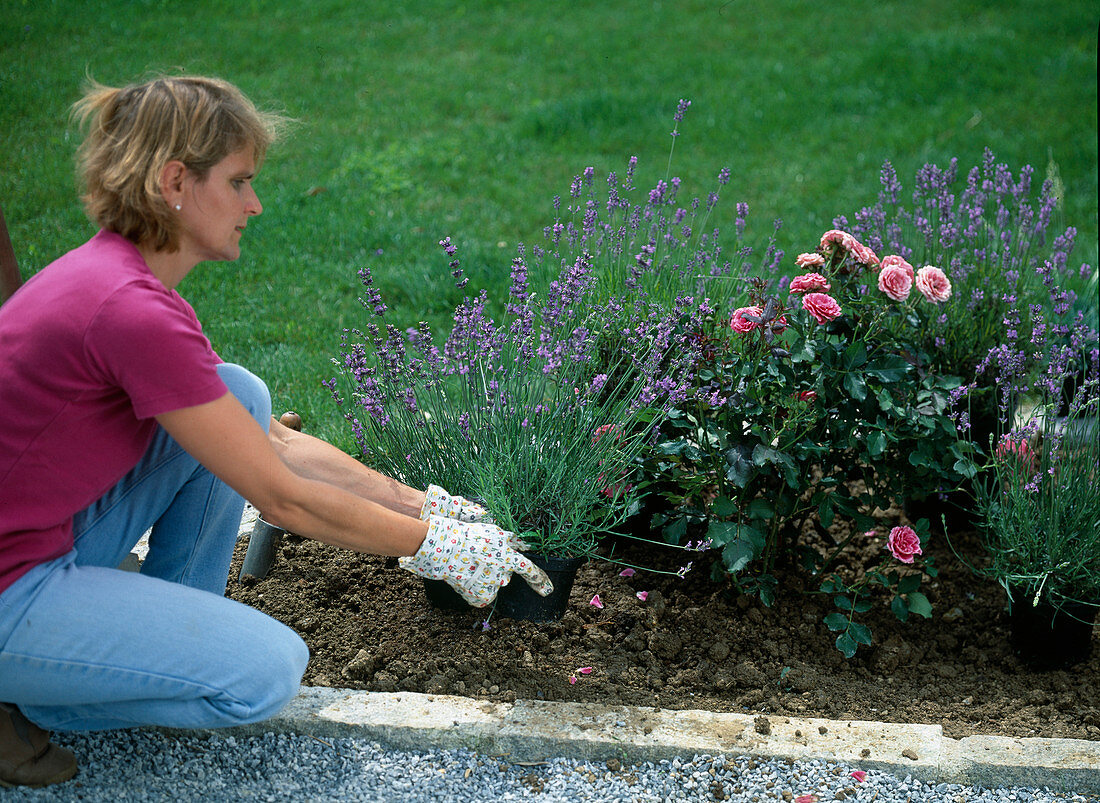
[[[476,605],[513,572],[550,590],[476,505],[274,421],[177,293],[240,255],[280,119],[200,77],[92,86],[75,110],[100,230],[0,307],[0,784],[73,777],[50,729],[239,725],[296,693],[306,645],[224,596],[245,498]],[[150,528],[141,573],[116,569]]]

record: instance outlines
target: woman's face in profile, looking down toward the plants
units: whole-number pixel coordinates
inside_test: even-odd
[[[179,250],[195,260],[235,260],[249,218],[264,208],[252,189],[252,148],[231,153],[198,179],[189,175],[179,200]]]

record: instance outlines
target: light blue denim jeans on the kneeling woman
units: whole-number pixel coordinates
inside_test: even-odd
[[[267,388],[218,373],[266,429]],[[298,691],[305,642],[228,600],[244,501],[163,429],[74,522],[75,547],[0,594],[0,700],[48,730],[265,719]],[[114,566],[152,527],[141,573]]]

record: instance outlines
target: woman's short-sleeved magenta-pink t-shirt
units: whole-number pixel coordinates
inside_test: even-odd
[[[73,515],[148,448],[154,416],[228,393],[195,310],[100,231],[0,307],[0,591],[73,548]]]

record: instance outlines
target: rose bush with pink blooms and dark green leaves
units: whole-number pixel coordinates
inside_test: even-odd
[[[837,645],[846,654],[869,638],[856,616],[870,592],[836,571],[838,557],[873,525],[876,508],[960,479],[949,415],[958,381],[922,372],[912,305],[926,301],[899,304],[877,292],[880,264],[904,275],[908,263],[880,261],[834,230],[795,260],[814,271],[794,276],[785,293],[780,282],[752,280],[715,358],[694,377],[692,404],[670,413],[642,472],[666,503],[657,517],[664,537],[705,534],[740,590],[770,603],[777,571],[802,566],[823,593],[850,602]],[[890,540],[916,570],[904,590],[897,571],[876,576],[900,595],[898,605],[912,600],[906,616],[927,615],[927,600],[914,594],[935,569],[916,562],[920,539],[909,534]]]

